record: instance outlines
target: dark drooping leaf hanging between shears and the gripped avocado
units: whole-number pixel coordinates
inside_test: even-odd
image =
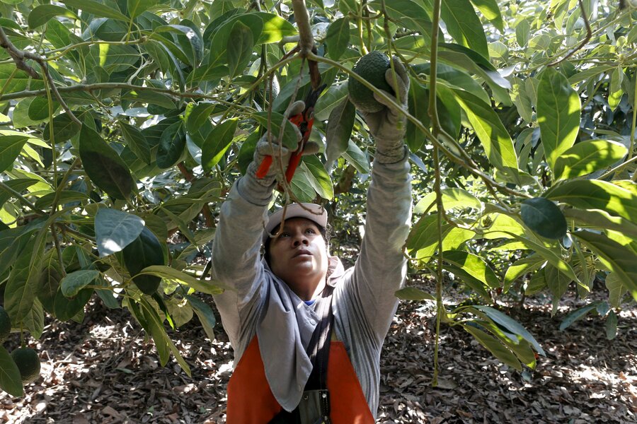
[[[341,100],[340,104],[330,113],[325,130],[325,156],[328,170],[331,170],[333,163],[348,150],[355,118],[356,107],[350,102],[349,98]]]

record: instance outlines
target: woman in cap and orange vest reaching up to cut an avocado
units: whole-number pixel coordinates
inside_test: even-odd
[[[386,80],[406,109],[409,79],[396,59],[394,69],[397,78],[388,69]],[[363,114],[377,151],[351,269],[328,252],[320,206],[294,204],[268,218],[277,167],[263,179],[255,172],[265,155],[285,164],[289,152],[265,137],[222,206],[212,269],[232,288],[214,297],[235,355],[228,423],[374,423],[380,351],[406,275],[411,221],[406,121],[377,100],[384,109]],[[291,114],[303,109],[297,102]]]

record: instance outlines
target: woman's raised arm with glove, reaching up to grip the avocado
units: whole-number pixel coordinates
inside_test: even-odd
[[[396,78],[388,69],[386,81],[394,89],[398,104],[406,109],[409,77],[396,58],[394,69]],[[367,330],[381,342],[398,305],[394,292],[405,282],[403,245],[411,224],[411,176],[403,141],[406,119],[389,102],[374,97],[385,107],[379,112],[363,112],[377,153],[367,191],[365,237],[348,290],[350,301],[359,303],[356,309],[362,311]]]

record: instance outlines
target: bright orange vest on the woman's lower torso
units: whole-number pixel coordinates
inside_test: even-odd
[[[374,424],[345,345],[331,341],[327,387],[333,424]],[[257,337],[243,353],[228,383],[228,424],[267,424],[282,410],[265,379]]]

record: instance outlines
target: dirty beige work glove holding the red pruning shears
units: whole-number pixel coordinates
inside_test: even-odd
[[[296,114],[302,113],[304,110],[305,102],[298,100],[297,102],[292,103],[292,106],[289,107],[285,117],[286,119],[287,117],[293,117]],[[287,125],[292,125],[294,131],[297,133],[297,139],[300,143],[302,136],[299,128],[291,122],[288,122]],[[248,165],[248,170],[246,172],[246,175],[253,177],[256,182],[263,187],[272,186],[275,179],[282,181],[282,179],[285,178],[285,170],[287,170],[289,158],[293,153],[293,151],[290,151],[288,148],[279,143],[277,136],[278,134],[272,134],[271,139],[268,140],[268,133],[263,134],[254,149],[254,158],[250,165]],[[302,154],[316,155],[316,153],[319,153],[319,145],[313,141],[306,142]],[[256,172],[266,156],[272,156],[272,165],[270,165],[268,173],[263,178],[258,178],[256,177]],[[279,162],[279,156],[281,157],[281,162]],[[281,163],[283,164],[283,169],[281,169]]]

